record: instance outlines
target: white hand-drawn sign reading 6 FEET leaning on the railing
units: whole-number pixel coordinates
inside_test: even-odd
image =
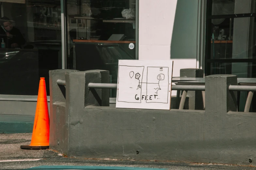
[[[119,60],[117,108],[170,110],[173,61]]]

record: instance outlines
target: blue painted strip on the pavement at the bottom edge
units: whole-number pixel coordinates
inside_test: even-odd
[[[139,168],[120,166],[37,166],[29,169],[37,170],[166,170],[161,168]]]

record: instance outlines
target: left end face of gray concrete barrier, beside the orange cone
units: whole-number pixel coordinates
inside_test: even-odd
[[[50,148],[57,149],[60,152],[67,151],[68,135],[68,113],[66,107],[66,88],[58,85],[57,80],[65,81],[65,74],[77,70],[50,70]]]

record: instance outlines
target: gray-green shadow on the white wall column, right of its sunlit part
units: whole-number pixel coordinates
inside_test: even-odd
[[[196,59],[198,1],[178,0],[171,39],[171,59]]]

